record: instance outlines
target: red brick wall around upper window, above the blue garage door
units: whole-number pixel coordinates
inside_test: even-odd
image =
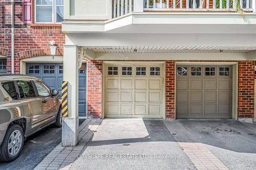
[[[25,25],[23,23],[22,5],[22,0],[15,1],[15,73],[19,73],[20,71],[20,59],[39,55],[50,55],[49,41],[55,41],[57,45],[57,55],[62,55],[63,44],[65,44],[65,34],[61,32],[60,24],[32,23],[30,25]],[[9,2],[3,2],[0,0],[0,19],[2,19],[0,27],[0,46],[9,50],[7,55],[8,72],[11,71],[10,7]]]

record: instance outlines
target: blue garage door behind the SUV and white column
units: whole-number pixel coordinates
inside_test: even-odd
[[[51,89],[56,89],[61,95],[61,84],[63,81],[62,63],[27,63],[27,75],[37,77],[44,81]],[[79,95],[78,95],[78,114],[86,116],[86,63],[79,69]]]

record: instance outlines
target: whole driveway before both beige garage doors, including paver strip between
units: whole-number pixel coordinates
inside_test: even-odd
[[[256,125],[104,119],[71,169],[256,169]]]

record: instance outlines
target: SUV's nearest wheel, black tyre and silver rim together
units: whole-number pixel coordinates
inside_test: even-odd
[[[0,161],[10,162],[15,160],[22,151],[24,144],[24,131],[19,125],[11,125],[6,131],[0,146]]]

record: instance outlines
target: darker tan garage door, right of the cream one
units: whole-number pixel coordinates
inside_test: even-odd
[[[232,66],[177,65],[177,118],[231,118]]]

